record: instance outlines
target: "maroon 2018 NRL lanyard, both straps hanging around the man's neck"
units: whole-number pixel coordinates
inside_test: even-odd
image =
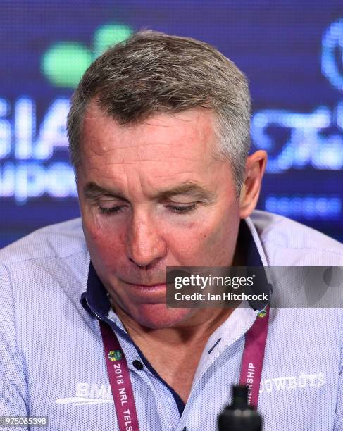
[[[269,307],[263,317],[257,317],[245,335],[242,368],[239,382],[249,388],[249,402],[257,406],[264,351],[268,332]],[[118,338],[111,327],[100,322],[104,343],[108,379],[111,384],[120,431],[139,431],[135,398],[130,372]]]

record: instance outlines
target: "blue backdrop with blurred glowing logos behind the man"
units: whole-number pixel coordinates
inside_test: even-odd
[[[144,27],[209,42],[251,84],[261,209],[343,240],[342,0],[2,0],[0,248],[79,214],[69,97],[106,46]]]

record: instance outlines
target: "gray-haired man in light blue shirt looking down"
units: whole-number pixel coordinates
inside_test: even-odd
[[[259,310],[168,308],[166,266],[343,261],[335,240],[254,211],[266,153],[248,156],[249,113],[244,75],[194,39],[139,32],[89,67],[68,116],[82,227],[0,253],[1,415],[216,430]],[[342,311],[273,309],[267,325],[264,429],[342,430]]]

